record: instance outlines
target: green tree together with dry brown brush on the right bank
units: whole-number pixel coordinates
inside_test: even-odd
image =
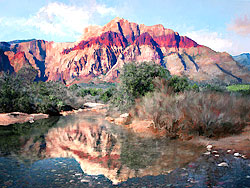
[[[166,129],[171,138],[221,137],[240,132],[250,122],[248,96],[225,86],[171,77],[150,63],[126,64],[113,98],[119,110],[152,120],[155,128]]]

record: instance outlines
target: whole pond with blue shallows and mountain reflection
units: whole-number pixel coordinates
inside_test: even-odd
[[[0,186],[250,187],[249,160],[204,152],[139,137],[83,112],[0,127]]]

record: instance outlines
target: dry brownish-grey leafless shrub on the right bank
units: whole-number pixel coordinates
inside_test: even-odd
[[[150,97],[137,102],[133,110],[139,119],[153,120],[169,137],[205,135],[219,137],[237,133],[250,120],[250,99],[219,92],[175,94],[161,81]]]

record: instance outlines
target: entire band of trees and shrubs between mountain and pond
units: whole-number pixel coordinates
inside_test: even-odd
[[[23,68],[0,77],[0,112],[58,115],[83,107],[85,101],[110,103],[110,110],[152,120],[171,138],[220,137],[240,132],[250,122],[249,85],[209,85],[171,76],[152,62],[128,63],[120,82],[74,84],[36,82],[37,72]]]

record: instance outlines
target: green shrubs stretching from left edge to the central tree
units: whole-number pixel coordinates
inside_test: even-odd
[[[0,113],[25,112],[59,115],[60,111],[83,108],[84,102],[110,101],[114,84],[74,84],[36,81],[37,71],[22,68],[17,74],[0,76]]]

